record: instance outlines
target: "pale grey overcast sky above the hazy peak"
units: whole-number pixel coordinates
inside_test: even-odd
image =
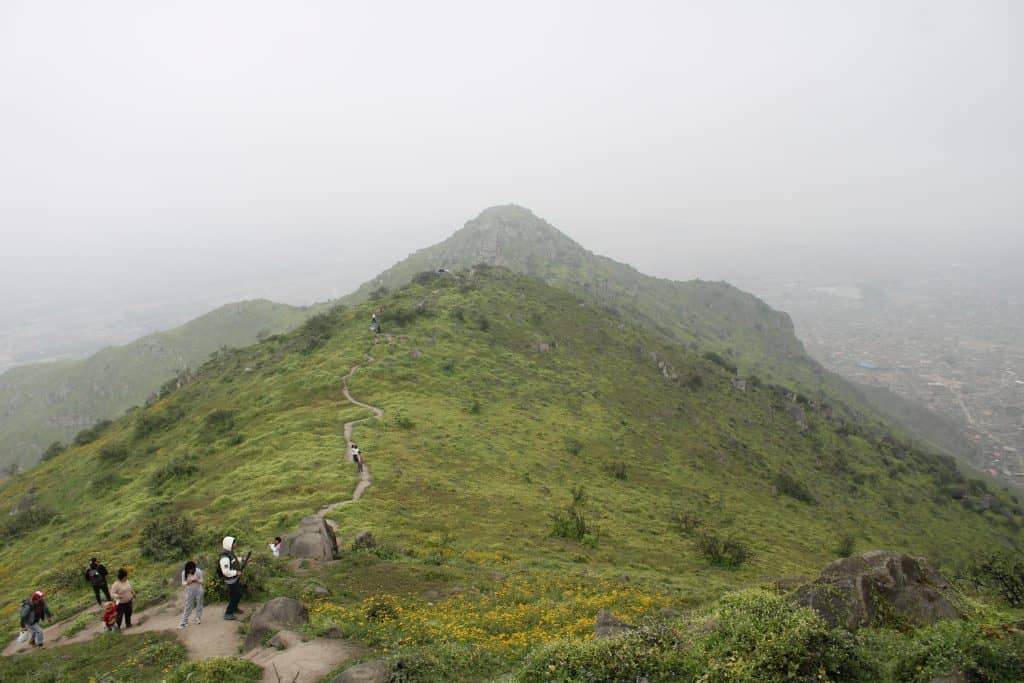
[[[1015,0],[4,0],[0,300],[325,299],[506,203],[679,278],[1019,247],[1022,56]]]

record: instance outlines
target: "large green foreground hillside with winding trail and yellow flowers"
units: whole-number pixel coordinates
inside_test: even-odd
[[[0,618],[35,588],[60,613],[87,605],[91,555],[132,566],[147,598],[186,550],[210,556],[230,533],[258,555],[348,498],[341,424],[365,412],[340,378],[359,364],[352,394],[386,413],[355,431],[372,487],[333,515],[342,541],[369,529],[378,546],[343,543],[311,577],[269,561],[258,575],[313,604],[310,629],[337,625],[425,678],[525,666],[543,643],[588,634],[598,608],[640,620],[813,575],[844,545],[946,566],[1019,547],[1016,499],[951,459],[784,387],[741,388],[721,358],[532,279],[414,281],[219,352],[93,442],[0,484],[0,510],[34,497],[4,529]]]

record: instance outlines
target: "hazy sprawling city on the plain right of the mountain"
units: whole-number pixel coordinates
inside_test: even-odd
[[[745,283],[787,311],[808,352],[847,378],[959,424],[976,464],[1024,484],[1024,287],[1014,268],[894,268],[877,281]]]

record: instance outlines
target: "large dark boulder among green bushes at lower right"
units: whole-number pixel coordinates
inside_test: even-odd
[[[925,560],[873,550],[837,560],[795,593],[830,627],[924,626],[959,618],[954,592]]]

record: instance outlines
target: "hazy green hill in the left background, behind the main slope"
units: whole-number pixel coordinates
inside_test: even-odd
[[[83,360],[14,368],[0,375],[0,468],[32,467],[54,441],[141,403],[218,348],[291,330],[314,312],[266,300],[232,303]]]

